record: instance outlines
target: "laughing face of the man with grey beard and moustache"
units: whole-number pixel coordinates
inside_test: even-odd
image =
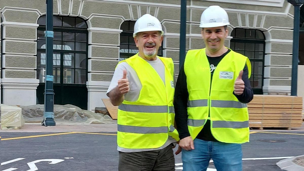
[[[159,31],[147,31],[137,33],[134,37],[136,47],[139,50],[139,56],[151,60],[156,58],[163,37]]]

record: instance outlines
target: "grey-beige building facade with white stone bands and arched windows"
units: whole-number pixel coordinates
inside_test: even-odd
[[[285,0],[187,0],[186,51],[204,47],[199,22],[210,5],[227,11],[225,45],[250,58],[255,94],[289,94],[293,6]],[[0,0],[0,11],[1,103],[42,104],[45,0]],[[163,25],[158,54],[173,58],[177,76],[180,0],[54,0],[54,103],[103,107],[118,61],[138,52],[133,26],[146,13]]]

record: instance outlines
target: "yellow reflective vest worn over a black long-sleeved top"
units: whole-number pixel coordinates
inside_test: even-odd
[[[250,78],[249,59],[230,51],[216,66],[210,86],[211,72],[206,48],[188,51],[184,64],[189,93],[187,125],[193,139],[209,119],[211,133],[218,141],[237,144],[249,142],[247,104],[241,103],[233,95],[234,82],[245,64]]]

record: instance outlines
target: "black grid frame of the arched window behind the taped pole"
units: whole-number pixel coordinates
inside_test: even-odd
[[[41,17],[45,17],[45,15],[41,16]],[[85,33],[86,34],[86,41],[85,42],[82,41],[83,43],[86,44],[85,51],[53,49],[54,54],[55,53],[59,53],[60,56],[63,56],[64,54],[67,54],[67,53],[85,54],[85,56],[86,56],[86,66],[85,66],[85,68],[76,68],[75,64],[74,64],[73,68],[64,67],[64,59],[60,58],[60,67],[54,67],[54,65],[53,65],[53,68],[60,68],[60,82],[58,82],[58,83],[54,82],[54,85],[62,85],[62,86],[64,86],[64,85],[68,85],[68,86],[86,86],[86,82],[88,81],[88,46],[89,46],[89,43],[88,43],[88,25],[86,23],[86,20],[82,19],[80,17],[74,17],[74,16],[58,16],[58,15],[54,15],[53,17],[61,17],[61,26],[55,26],[55,25],[53,26],[53,31],[54,32],[61,32],[61,40],[60,40],[61,41],[61,46],[63,45],[64,41],[68,42],[68,40],[63,40],[63,33],[64,32],[68,32],[68,33]],[[75,27],[74,26],[63,26],[64,18],[73,18],[74,19],[74,23],[75,23]],[[81,19],[86,24],[86,27],[76,27],[76,19]],[[38,19],[38,24],[39,24],[39,19]],[[38,33],[38,31],[45,31],[45,30],[46,30],[46,25],[39,24],[39,26],[37,28],[37,33]],[[38,39],[38,35],[37,35],[37,40],[36,40],[37,44],[38,44],[39,40],[43,40],[43,39]],[[74,42],[74,45],[75,45],[76,42],[78,42],[78,41],[76,41],[76,35],[75,35],[75,40],[71,41],[71,42]],[[75,49],[75,46],[74,46],[74,49]],[[37,47],[36,58],[38,57],[38,52],[46,52],[46,49],[44,49],[44,48],[38,48]],[[37,58],[37,68],[45,68],[45,66],[39,66],[38,65],[38,60],[39,59]],[[64,75],[62,75],[62,74],[64,73],[63,72],[64,69],[72,69],[72,70],[74,70],[74,83],[63,83]],[[75,77],[75,70],[76,69],[85,70],[85,75],[86,75],[85,83],[75,83],[75,79],[76,79],[76,77]],[[62,75],[62,77],[61,77],[61,75]],[[37,76],[37,79],[39,79],[38,72],[37,72],[36,76]],[[54,79],[55,79],[55,75],[54,75]],[[40,82],[40,85],[44,85],[44,84],[45,84],[44,82]]]

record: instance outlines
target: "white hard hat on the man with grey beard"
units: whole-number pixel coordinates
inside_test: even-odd
[[[144,31],[160,31],[161,35],[164,35],[163,28],[161,27],[161,22],[150,14],[141,16],[135,22],[133,37],[136,36],[136,33]]]

